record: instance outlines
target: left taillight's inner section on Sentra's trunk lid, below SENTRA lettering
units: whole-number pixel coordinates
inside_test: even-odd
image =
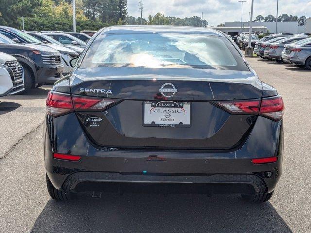
[[[109,105],[115,103],[116,100],[97,97],[72,96],[72,101],[76,111],[96,111],[104,110]]]

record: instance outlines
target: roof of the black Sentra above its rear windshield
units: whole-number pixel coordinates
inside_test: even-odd
[[[206,34],[225,37],[221,32],[203,27],[187,26],[160,26],[160,25],[121,25],[104,28],[102,34],[119,33],[183,33],[183,34]]]

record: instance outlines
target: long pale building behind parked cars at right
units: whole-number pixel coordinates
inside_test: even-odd
[[[306,20],[306,27],[307,27],[307,20]],[[222,31],[231,36],[234,36],[242,32],[248,32],[249,22],[242,22],[242,27],[241,27],[241,22],[225,22],[224,27],[212,27],[212,28]],[[266,33],[266,32],[276,33],[276,22],[253,22],[252,31],[253,32],[258,31],[258,32],[263,32],[263,33]],[[298,22],[277,22],[277,33],[301,34],[301,33],[309,32],[309,31],[307,28],[305,29],[304,26],[299,26]]]

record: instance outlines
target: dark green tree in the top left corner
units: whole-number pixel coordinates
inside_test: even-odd
[[[18,19],[22,16],[32,16],[34,9],[41,3],[42,0],[1,0],[0,24],[18,28]]]

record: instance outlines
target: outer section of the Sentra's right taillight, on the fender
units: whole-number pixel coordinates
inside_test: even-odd
[[[263,98],[259,115],[278,121],[283,118],[284,102],[281,96]]]

